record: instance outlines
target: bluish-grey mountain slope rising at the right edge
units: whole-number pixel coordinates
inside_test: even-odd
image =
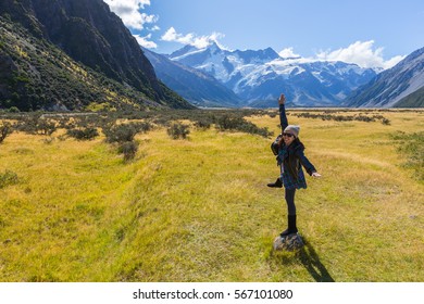
[[[424,106],[424,48],[353,91],[347,106]]]

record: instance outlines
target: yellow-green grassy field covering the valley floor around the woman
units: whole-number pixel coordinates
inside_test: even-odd
[[[284,190],[266,187],[278,176],[272,138],[191,126],[172,140],[161,127],[124,162],[102,136],[10,135],[0,280],[424,281],[423,167],[409,165],[423,142],[402,148],[422,138],[424,112],[363,114],[389,124],[299,113],[289,123],[323,177],[297,192],[298,252],[272,250],[287,212]],[[277,134],[271,114],[247,119]]]

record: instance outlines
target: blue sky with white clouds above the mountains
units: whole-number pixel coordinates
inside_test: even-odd
[[[424,47],[422,0],[104,0],[158,53],[216,41],[390,67]]]

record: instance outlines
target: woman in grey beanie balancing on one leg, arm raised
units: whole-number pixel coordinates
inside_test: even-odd
[[[291,233],[297,233],[296,226],[296,205],[295,193],[296,189],[307,188],[307,180],[302,170],[302,166],[312,177],[321,177],[315,167],[304,156],[304,145],[299,140],[299,126],[288,125],[286,116],[286,97],[280,94],[278,99],[279,104],[279,122],[282,125],[282,136],[278,141],[273,143],[272,150],[277,152],[277,163],[280,167],[279,178],[274,183],[269,183],[269,187],[284,186],[285,199],[288,208],[288,228],[280,233],[284,238]]]

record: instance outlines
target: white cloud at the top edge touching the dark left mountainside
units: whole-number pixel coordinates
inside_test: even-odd
[[[112,12],[119,15],[127,27],[142,29],[147,23],[158,22],[157,15],[141,13],[140,10],[150,5],[150,0],[103,0]]]

